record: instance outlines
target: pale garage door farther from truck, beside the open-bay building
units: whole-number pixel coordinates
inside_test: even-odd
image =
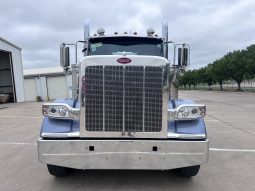
[[[35,79],[24,80],[25,101],[36,101],[37,91]]]

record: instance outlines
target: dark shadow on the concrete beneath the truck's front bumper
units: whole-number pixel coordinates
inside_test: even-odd
[[[90,190],[169,190],[191,188],[196,177],[183,178],[173,171],[74,170],[64,178],[52,177],[54,187]],[[72,185],[72,186],[71,186]],[[67,189],[68,190],[68,189]]]

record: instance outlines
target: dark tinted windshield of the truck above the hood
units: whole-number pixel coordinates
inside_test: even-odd
[[[90,55],[162,56],[162,40],[146,37],[103,37],[90,39]]]

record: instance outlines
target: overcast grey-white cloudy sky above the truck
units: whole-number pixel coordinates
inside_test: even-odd
[[[23,67],[59,65],[59,45],[83,40],[91,20],[107,34],[169,24],[169,40],[191,45],[192,68],[255,43],[255,0],[1,0],[0,36],[22,48]]]

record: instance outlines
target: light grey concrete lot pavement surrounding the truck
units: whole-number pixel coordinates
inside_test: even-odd
[[[255,190],[255,94],[180,91],[207,105],[209,163],[192,179],[171,171],[74,171],[54,178],[37,160],[41,103],[0,109],[0,191],[9,190]],[[4,105],[0,105],[0,108]]]

